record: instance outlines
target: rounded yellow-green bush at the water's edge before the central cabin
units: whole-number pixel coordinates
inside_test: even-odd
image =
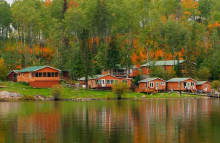
[[[118,96],[118,100],[121,96],[128,92],[128,84],[125,82],[116,82],[112,85],[112,91]]]

